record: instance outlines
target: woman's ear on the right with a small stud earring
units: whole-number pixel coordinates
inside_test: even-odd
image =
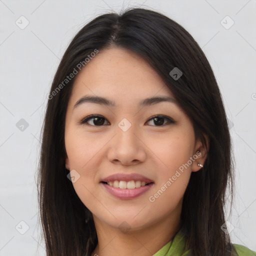
[[[203,133],[203,137],[206,141],[206,146],[203,145],[201,139],[198,139],[195,143],[193,158],[194,161],[192,163],[192,171],[198,171],[202,166],[198,166],[198,163],[204,165],[205,159],[207,157],[207,151],[209,151],[209,138],[206,134]]]

